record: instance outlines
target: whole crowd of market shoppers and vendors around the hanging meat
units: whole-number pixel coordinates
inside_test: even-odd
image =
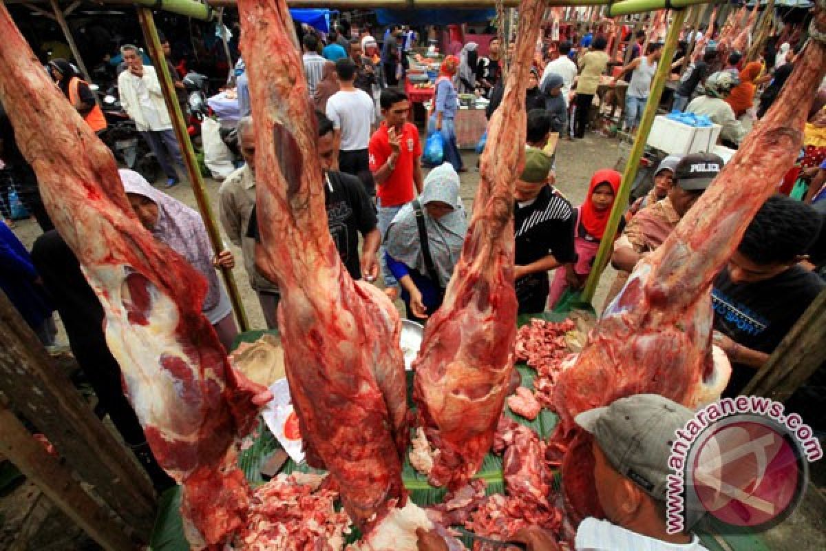
[[[720,143],[736,149],[780,97],[805,45],[805,33],[786,28],[772,36],[763,50],[748,55],[716,47],[721,44],[715,44],[717,33],[715,28],[686,29],[673,59],[662,57],[659,37],[642,31],[634,34],[630,28],[620,33],[625,45],[616,49],[610,45],[615,34],[603,26],[572,27],[556,39],[545,37],[527,83],[525,165],[515,181],[513,203],[513,275],[520,314],[564,310],[576,301],[603,240],[612,244],[610,263],[617,270],[610,302],[638,262],[662,245],[724,166],[724,159],[711,152],[660,155],[649,181],[643,183],[645,192],[624,212],[618,234],[609,235],[606,228],[621,174],[607,167],[597,170],[582,204],[572,204],[554,185],[566,178],[554,154],[558,139],[582,140],[589,131],[607,128],[605,114],[612,102],[622,115],[609,124],[634,134],[648,105],[657,65],[667,63],[673,86],[664,109],[708,117],[722,127]],[[390,26],[382,40],[369,28],[355,36],[346,21],[325,36],[309,29],[301,34],[308,99],[316,108],[316,162],[325,178],[330,235],[352,278],[381,283],[388,297],[401,300],[408,319],[425,324],[441,305],[468,230],[468,213],[459,194],[460,174],[468,167],[456,145],[454,128],[458,94],[487,98],[487,116],[491,116],[503,95],[511,45],[488,38],[486,55],[479,55],[481,44],[470,35],[463,36],[458,26],[449,28],[444,55],[438,57],[432,106],[424,121],[425,135],[444,135],[444,163],[426,171],[424,140],[411,121],[414,106],[401,87],[410,69],[408,55],[420,48],[422,38],[403,26]],[[691,50],[700,44],[703,51]],[[121,103],[161,160],[167,186],[173,186],[180,179],[178,171],[183,173],[182,161],[157,74],[134,46],[124,46],[121,54],[126,64],[119,77]],[[243,61],[237,68],[242,117],[235,132],[243,163],[221,183],[221,225],[230,242],[240,248],[268,329],[277,329],[278,285],[264,278],[254,264],[259,239],[254,121]],[[72,65],[56,60],[48,70],[66,100],[94,130],[102,131],[106,122],[87,83]],[[821,85],[811,93],[814,107],[798,163],[778,183],[777,194],[757,212],[729,264],[714,279],[714,343],[733,365],[725,396],[743,391],[826,287],[822,229],[826,216],[826,87]],[[0,286],[44,344],[55,341],[53,312],[59,313],[74,354],[104,407],[154,482],[163,487],[169,480],[154,464],[120,392],[117,366],[99,329],[102,309],[97,298],[74,255],[51,227],[37,198],[36,176],[17,149],[5,116],[0,130],[4,182],[0,204],[7,221],[0,225]],[[216,268],[233,268],[235,254],[230,249],[213,254],[197,211],[135,171],[121,170],[121,179],[141,224],[207,278],[203,313],[229,349],[238,328]],[[7,196],[12,188],[26,195],[26,206],[45,232],[31,251],[10,229],[14,222]],[[826,426],[822,372],[821,368],[787,402],[788,409],[799,411],[819,430]],[[651,439],[647,449],[619,460],[633,468],[666,457],[662,435],[681,426],[688,415],[685,408],[662,398],[639,396],[617,401],[577,422],[596,436],[596,468],[608,480],[619,470],[620,444],[611,437],[612,430]],[[634,426],[623,426],[629,423]],[[665,473],[652,476],[659,481]],[[702,549],[689,534],[668,539],[657,516],[662,492],[641,491],[633,482],[625,482],[615,479],[612,483],[622,490],[616,496],[625,504],[632,503],[633,511],[617,515],[613,528],[593,520],[591,536],[582,536],[584,547],[610,549],[604,547],[605,540],[622,534],[630,541],[670,541],[667,549]],[[603,501],[605,496],[601,493],[600,497]],[[608,512],[621,509],[623,503],[619,497],[605,498],[603,506]],[[526,543],[534,542],[534,549],[551,549],[536,543],[542,534],[523,535]],[[579,542],[577,536],[577,546]]]

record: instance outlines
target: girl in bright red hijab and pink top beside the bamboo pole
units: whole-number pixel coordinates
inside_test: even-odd
[[[608,225],[611,207],[614,206],[621,181],[622,174],[616,170],[597,170],[591,176],[591,185],[588,187],[585,202],[577,208],[577,226],[574,230],[577,263],[574,264],[573,272],[581,283],[584,283],[591,273],[591,266],[605,235],[605,226]],[[620,219],[620,224],[622,222],[624,219]],[[619,230],[622,230],[622,226]],[[557,268],[553,275],[551,290],[548,293],[548,310],[553,310],[553,306],[556,306],[563,292],[569,287],[565,270],[566,268]]]

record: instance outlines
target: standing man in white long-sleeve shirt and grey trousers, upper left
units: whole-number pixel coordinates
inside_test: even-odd
[[[152,152],[164,173],[167,188],[178,183],[175,165],[183,169],[181,148],[172,130],[172,121],[164,103],[164,93],[160,89],[158,75],[154,67],[144,65],[136,46],[121,46],[126,70],[117,78],[121,107],[126,111],[150,145]]]

